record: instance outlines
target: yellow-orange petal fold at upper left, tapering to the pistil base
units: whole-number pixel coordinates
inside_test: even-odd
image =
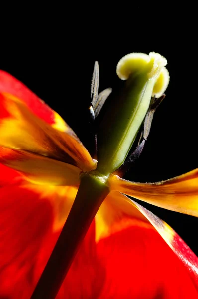
[[[0,146],[48,156],[83,171],[96,168],[96,161],[71,129],[52,128],[9,94],[0,95],[0,108]]]

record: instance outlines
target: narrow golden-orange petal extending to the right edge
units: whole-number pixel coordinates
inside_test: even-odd
[[[198,217],[198,169],[158,183],[135,183],[112,175],[109,184],[111,190]]]

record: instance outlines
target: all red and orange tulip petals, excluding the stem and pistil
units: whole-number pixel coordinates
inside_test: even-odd
[[[0,299],[29,299],[79,175],[97,161],[56,112],[0,71],[0,163]],[[198,216],[198,169],[151,184],[113,172],[105,184],[108,194],[56,298],[198,298],[198,258],[165,222],[123,195]]]

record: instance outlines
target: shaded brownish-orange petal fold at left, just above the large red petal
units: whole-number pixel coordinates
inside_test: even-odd
[[[25,150],[0,146],[0,163],[20,171],[29,181],[36,184],[76,186],[80,182],[79,168]]]

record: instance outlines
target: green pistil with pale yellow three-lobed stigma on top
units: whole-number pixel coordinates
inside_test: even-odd
[[[126,80],[98,131],[97,170],[109,176],[119,168],[131,149],[145,118],[151,97],[160,97],[168,86],[167,61],[158,53],[132,53],[117,65],[117,74]]]

